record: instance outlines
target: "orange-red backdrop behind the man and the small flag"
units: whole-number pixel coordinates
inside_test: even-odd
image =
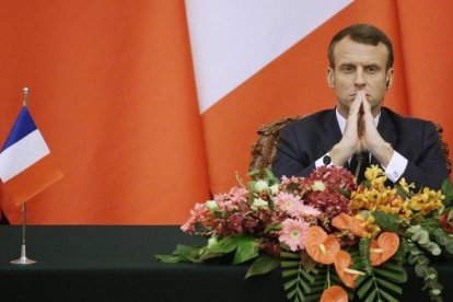
[[[30,86],[28,108],[65,174],[28,202],[28,222],[182,223],[246,172],[257,127],[334,106],[326,47],[356,22],[394,43],[385,104],[441,123],[453,144],[452,14],[449,0],[355,1],[200,115],[183,1],[2,1],[0,140]],[[18,223],[1,187],[0,200]]]

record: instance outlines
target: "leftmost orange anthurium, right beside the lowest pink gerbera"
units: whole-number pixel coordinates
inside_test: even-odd
[[[340,245],[335,235],[327,235],[320,226],[311,226],[306,231],[305,249],[315,262],[328,265],[334,263]]]

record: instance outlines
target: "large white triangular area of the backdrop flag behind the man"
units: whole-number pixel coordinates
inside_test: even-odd
[[[352,0],[186,0],[201,113]]]

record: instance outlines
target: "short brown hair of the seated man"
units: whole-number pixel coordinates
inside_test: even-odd
[[[393,45],[387,35],[380,28],[371,24],[353,24],[340,32],[338,32],[333,38],[328,46],[328,62],[330,68],[335,68],[334,61],[334,48],[338,42],[345,37],[350,37],[352,40],[376,46],[380,42],[385,45],[388,49],[388,58],[386,69],[388,70],[393,66]]]

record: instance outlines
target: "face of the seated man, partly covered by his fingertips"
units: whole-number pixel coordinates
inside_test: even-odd
[[[348,117],[356,93],[364,90],[373,116],[393,83],[393,68],[386,70],[388,49],[384,44],[361,44],[345,37],[334,48],[335,68],[327,69],[327,83],[335,89],[338,112]]]

